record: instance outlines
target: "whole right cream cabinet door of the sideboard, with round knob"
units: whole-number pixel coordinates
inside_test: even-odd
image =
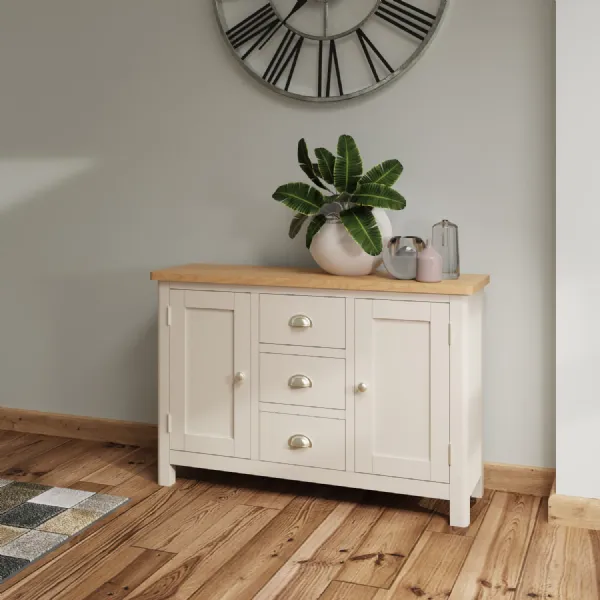
[[[356,300],[356,471],[449,481],[449,314],[443,303]]]

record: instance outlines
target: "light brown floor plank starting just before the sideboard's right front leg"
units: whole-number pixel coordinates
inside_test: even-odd
[[[426,531],[390,589],[380,590],[375,598],[447,598],[472,543],[472,538]]]

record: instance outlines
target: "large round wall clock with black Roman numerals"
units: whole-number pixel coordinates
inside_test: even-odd
[[[215,0],[244,67],[282,94],[320,102],[375,90],[431,42],[447,0]]]

